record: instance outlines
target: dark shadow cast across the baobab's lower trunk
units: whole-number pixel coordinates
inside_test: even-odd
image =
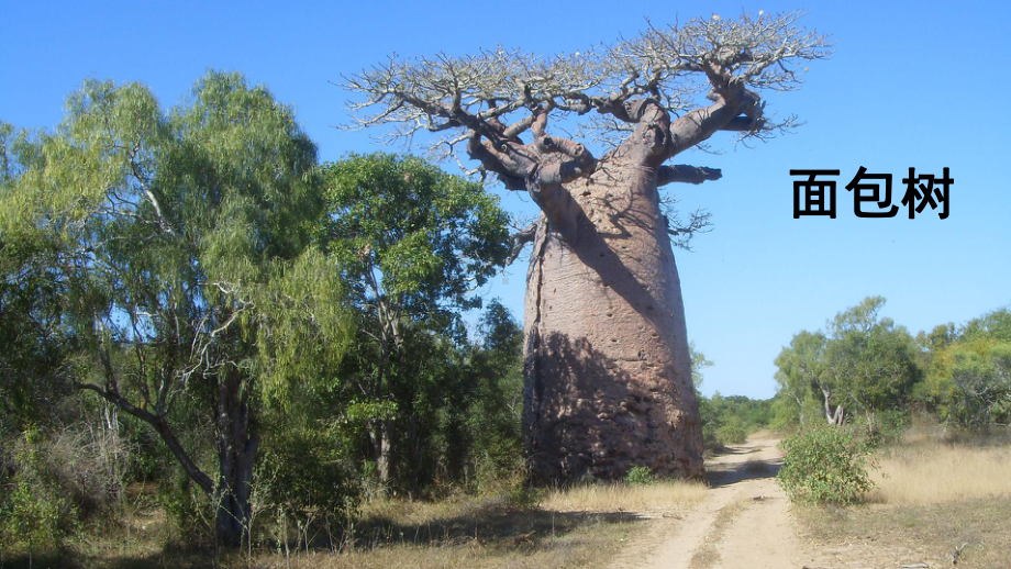
[[[675,394],[647,389],[587,338],[540,338],[524,420],[535,481],[614,480],[633,466],[660,477],[691,476],[701,462],[684,438],[698,425],[671,419]]]

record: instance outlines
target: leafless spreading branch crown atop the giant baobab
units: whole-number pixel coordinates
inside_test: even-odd
[[[800,26],[801,15],[759,12],[651,25],[609,46],[556,56],[498,46],[463,57],[391,57],[346,77],[344,87],[363,97],[351,104],[358,125],[392,126],[392,138],[420,131],[446,134],[434,140],[433,150],[448,156],[465,148],[478,169],[525,191],[530,181],[566,182],[596,163],[582,144],[548,136],[548,115],[575,119],[577,137],[611,147],[630,136],[648,137],[657,164],[716,131],[762,137],[795,125],[793,116],[767,114],[759,91],[796,89],[807,70],[803,62],[829,55],[827,37]],[[530,143],[521,138],[527,132]],[[704,168],[666,167],[659,183],[715,176]],[[530,191],[543,208],[543,197]]]

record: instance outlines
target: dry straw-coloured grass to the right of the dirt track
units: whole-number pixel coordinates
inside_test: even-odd
[[[877,488],[851,507],[798,507],[824,567],[1011,568],[1011,446],[908,434],[882,449]],[[965,544],[963,548],[963,544]]]

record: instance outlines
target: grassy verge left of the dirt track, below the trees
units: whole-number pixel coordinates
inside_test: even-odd
[[[649,517],[680,516],[706,495],[701,483],[588,484],[536,493],[525,505],[503,495],[442,501],[374,500],[364,504],[354,538],[315,539],[293,550],[264,544],[252,551],[187,550],[156,507],[124,523],[89,528],[69,551],[34,559],[34,567],[304,567],[498,568],[600,567],[635,537]],[[27,558],[2,567],[27,567]]]

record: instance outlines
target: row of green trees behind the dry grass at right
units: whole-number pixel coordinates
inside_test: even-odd
[[[774,425],[862,424],[871,438],[900,429],[914,413],[960,428],[1011,420],[1011,311],[915,337],[880,317],[873,297],[801,331],[776,358]]]

